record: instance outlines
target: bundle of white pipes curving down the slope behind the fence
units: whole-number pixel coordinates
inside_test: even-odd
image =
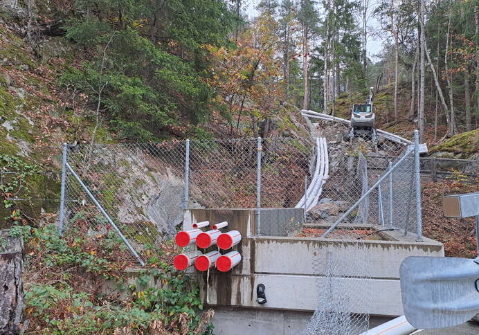
[[[326,182],[329,173],[329,157],[327,155],[326,138],[316,138],[316,169],[314,170],[311,183],[295,208],[305,208],[310,210],[318,203],[318,199],[323,192],[323,184]],[[306,206],[305,206],[306,201]]]

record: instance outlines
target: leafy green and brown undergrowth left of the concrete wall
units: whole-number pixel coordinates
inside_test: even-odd
[[[197,284],[170,265],[171,243],[126,275],[113,233],[15,226],[11,234],[25,244],[26,334],[212,334],[213,311],[202,311]]]

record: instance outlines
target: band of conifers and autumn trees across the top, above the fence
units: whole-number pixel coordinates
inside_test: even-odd
[[[475,0],[26,4],[30,48],[43,34],[74,49],[59,73],[66,107],[91,111],[120,140],[267,137],[284,108],[335,115],[369,87],[392,93],[379,118],[408,121],[423,142],[429,129],[437,143],[478,125]]]

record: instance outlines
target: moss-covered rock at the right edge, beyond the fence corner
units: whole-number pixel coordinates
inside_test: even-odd
[[[441,152],[441,154],[439,154]],[[440,145],[431,148],[433,156],[442,156],[449,152],[453,155],[451,158],[468,159],[473,154],[479,152],[479,129],[471,130],[457,134]],[[435,154],[437,153],[437,154]],[[435,154],[435,155],[434,155]]]

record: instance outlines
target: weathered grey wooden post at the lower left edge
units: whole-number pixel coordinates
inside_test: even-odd
[[[0,231],[0,334],[19,334],[23,289],[21,239]]]

